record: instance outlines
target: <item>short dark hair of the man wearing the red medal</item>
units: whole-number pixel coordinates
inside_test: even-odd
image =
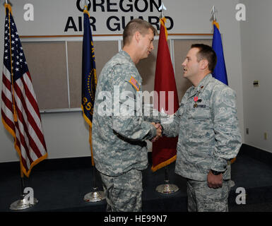
[[[199,62],[201,59],[206,59],[208,61],[208,69],[213,72],[217,62],[217,57],[213,48],[207,44],[192,44],[191,48],[199,49],[199,52],[196,54],[197,61]]]

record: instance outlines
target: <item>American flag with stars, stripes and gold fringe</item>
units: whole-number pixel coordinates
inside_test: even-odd
[[[5,7],[1,117],[4,127],[14,138],[22,177],[23,174],[29,177],[32,167],[47,157],[47,148],[36,95],[11,15],[11,6],[6,4]]]

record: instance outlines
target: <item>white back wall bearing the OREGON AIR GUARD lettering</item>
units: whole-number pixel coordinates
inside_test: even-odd
[[[3,33],[4,33],[4,7],[0,6],[0,69],[3,62]],[[19,35],[81,35],[82,32],[64,32],[68,16],[77,18],[82,16],[75,6],[74,0],[11,0],[13,3],[13,17],[16,21]],[[117,0],[110,1],[119,2]],[[126,2],[126,1],[124,1]],[[149,1],[148,1],[149,2]],[[25,22],[23,20],[23,6],[27,3],[34,6],[34,21]],[[166,16],[171,16],[174,20],[174,28],[169,33],[212,33],[211,7],[215,5],[216,14],[220,24],[220,32],[223,34],[223,48],[225,52],[225,63],[227,67],[227,77],[229,85],[237,92],[237,109],[240,120],[240,129],[244,131],[243,93],[242,93],[242,61],[241,61],[241,37],[240,23],[235,20],[235,6],[238,0],[164,0],[167,7]],[[116,8],[117,6],[115,6]],[[151,13],[146,11],[138,13],[107,13],[97,11],[91,13],[97,20],[97,34],[112,34],[120,32],[110,32],[105,26],[105,19],[112,15],[119,18],[125,16],[129,21],[131,15],[134,17],[160,16],[158,11]],[[27,59],[28,60],[28,59]],[[31,74],[31,71],[30,71]],[[0,76],[1,80],[1,76]],[[1,85],[1,82],[0,82]],[[90,156],[88,143],[88,128],[83,120],[81,112],[66,112],[42,114],[42,124],[47,143],[49,158]],[[16,161],[18,157],[13,148],[11,136],[0,126],[0,162]]]

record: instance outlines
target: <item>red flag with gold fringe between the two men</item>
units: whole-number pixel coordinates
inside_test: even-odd
[[[174,114],[179,109],[177,85],[175,73],[167,45],[166,18],[160,19],[160,37],[155,71],[154,90],[158,98],[154,97],[153,106],[160,112]],[[165,93],[163,92],[165,91]],[[171,93],[172,92],[172,93]],[[162,137],[153,143],[152,147],[152,171],[174,162],[177,157],[177,138]]]

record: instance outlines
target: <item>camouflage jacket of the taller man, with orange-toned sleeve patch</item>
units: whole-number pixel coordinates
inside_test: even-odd
[[[124,51],[112,57],[100,73],[95,93],[92,143],[95,167],[103,174],[117,176],[132,168],[146,169],[148,166],[145,140],[153,138],[156,130],[136,114],[137,108],[142,107],[136,105],[136,93],[141,91],[141,83],[134,62]],[[122,98],[124,94],[126,97]]]

